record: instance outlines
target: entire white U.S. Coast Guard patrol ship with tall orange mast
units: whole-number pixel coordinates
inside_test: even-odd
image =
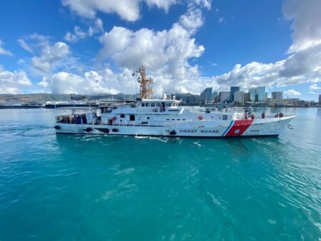
[[[56,117],[56,133],[96,135],[148,135],[176,137],[235,137],[277,136],[290,123],[292,116],[254,117],[243,108],[188,108],[180,101],[149,98],[153,83],[145,69],[140,75],[141,98],[101,108],[90,108],[88,113],[73,113]]]

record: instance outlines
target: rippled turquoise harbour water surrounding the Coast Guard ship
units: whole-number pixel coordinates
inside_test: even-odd
[[[57,113],[0,110],[1,241],[321,238],[320,108],[231,139],[56,135]]]

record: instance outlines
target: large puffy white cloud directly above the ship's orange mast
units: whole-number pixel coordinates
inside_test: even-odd
[[[101,37],[101,43],[104,47],[100,57],[111,58],[122,68],[146,65],[150,71],[166,68],[173,75],[189,67],[188,58],[197,58],[204,51],[179,24],[174,24],[169,31],[157,32],[113,27]]]

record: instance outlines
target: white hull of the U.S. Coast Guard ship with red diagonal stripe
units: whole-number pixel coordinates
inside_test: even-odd
[[[186,121],[166,125],[91,125],[56,123],[56,133],[147,135],[197,138],[277,136],[295,116],[257,120]]]

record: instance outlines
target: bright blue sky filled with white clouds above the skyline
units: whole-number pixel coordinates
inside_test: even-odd
[[[212,86],[317,100],[318,0],[4,1],[0,93],[136,93],[143,64],[157,94]]]

